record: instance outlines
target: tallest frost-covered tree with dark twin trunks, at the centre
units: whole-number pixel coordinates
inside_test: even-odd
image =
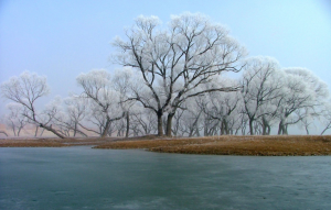
[[[162,27],[157,16],[140,15],[126,31],[126,40],[115,40],[118,53],[111,58],[140,74],[145,87],[134,91],[130,99],[157,114],[159,135],[163,134],[162,115],[166,112],[167,135],[171,135],[172,118],[188,98],[236,89],[199,89],[222,71],[238,71],[242,68],[238,60],[245,54],[224,26],[202,14],[172,15],[168,27]]]

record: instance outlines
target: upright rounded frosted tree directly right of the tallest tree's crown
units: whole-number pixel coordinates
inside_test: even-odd
[[[247,59],[242,78],[243,112],[247,115],[250,135],[254,135],[254,122],[263,118],[264,128],[268,126],[267,115],[277,111],[273,101],[280,97],[282,88],[278,62],[271,57],[252,57]],[[264,132],[264,134],[266,134]]]

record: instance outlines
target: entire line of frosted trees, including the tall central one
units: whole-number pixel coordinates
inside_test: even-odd
[[[166,26],[140,15],[113,46],[110,60],[121,69],[82,73],[81,92],[42,110],[35,102],[50,92],[45,77],[24,71],[3,82],[10,103],[1,121],[18,136],[33,124],[35,135],[42,128],[60,137],[269,135],[288,134],[293,125],[309,134],[316,122],[323,134],[331,128],[325,82],[273,57],[248,57],[224,26],[202,14],[173,15]]]

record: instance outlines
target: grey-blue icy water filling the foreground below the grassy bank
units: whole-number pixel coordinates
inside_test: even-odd
[[[331,157],[0,148],[0,209],[331,209]]]

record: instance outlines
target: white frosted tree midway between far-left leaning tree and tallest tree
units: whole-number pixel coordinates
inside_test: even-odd
[[[95,69],[82,73],[76,80],[84,90],[81,97],[89,101],[90,122],[98,125],[102,137],[107,136],[111,122],[124,117],[119,92],[114,89],[110,74]]]

